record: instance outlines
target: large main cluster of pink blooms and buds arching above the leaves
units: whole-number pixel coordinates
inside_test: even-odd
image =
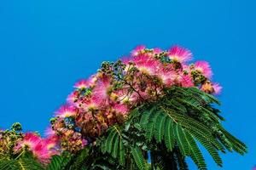
[[[74,85],[67,104],[51,120],[52,134],[61,150],[75,152],[114,123],[125,121],[137,105],[154,101],[172,86],[196,87],[219,94],[221,87],[211,82],[212,70],[206,61],[189,64],[192,54],[178,46],[167,51],[138,46],[117,62],[103,62],[88,79]]]

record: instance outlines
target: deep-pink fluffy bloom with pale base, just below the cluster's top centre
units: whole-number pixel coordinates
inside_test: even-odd
[[[136,64],[139,71],[151,76],[154,76],[160,67],[160,61],[158,59],[148,57],[147,55],[139,55],[134,57],[132,61]]]

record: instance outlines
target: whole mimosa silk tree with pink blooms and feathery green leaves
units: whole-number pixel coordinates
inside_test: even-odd
[[[19,123],[0,131],[2,169],[188,169],[190,157],[207,169],[204,148],[218,166],[219,152],[243,155],[247,146],[221,125],[206,61],[192,54],[139,46],[116,62],[103,62],[74,85],[55,112],[47,138],[21,133]],[[201,147],[200,147],[201,146]]]

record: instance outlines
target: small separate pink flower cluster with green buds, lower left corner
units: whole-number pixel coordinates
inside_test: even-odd
[[[0,130],[0,154],[18,158],[31,152],[38,161],[47,164],[51,156],[59,153],[57,141],[54,136],[42,139],[38,133],[22,133],[20,123],[15,123],[11,130]]]

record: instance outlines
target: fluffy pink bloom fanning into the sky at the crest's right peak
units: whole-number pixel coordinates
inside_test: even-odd
[[[169,50],[169,58],[179,63],[185,63],[192,59],[191,52],[186,48],[174,46]]]

